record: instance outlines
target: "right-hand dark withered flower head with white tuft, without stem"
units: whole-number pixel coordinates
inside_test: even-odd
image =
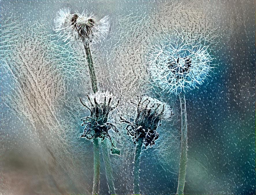
[[[137,116],[134,121],[130,122],[121,117],[120,122],[128,124],[127,135],[132,137],[134,144],[143,139],[145,148],[152,147],[159,137],[157,132],[159,121],[171,118],[172,109],[166,103],[148,96],[140,97],[138,103],[134,104],[137,105]]]

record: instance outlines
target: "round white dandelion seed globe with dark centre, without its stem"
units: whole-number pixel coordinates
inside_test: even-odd
[[[166,39],[147,54],[147,70],[164,92],[179,94],[198,88],[213,68],[208,46]]]

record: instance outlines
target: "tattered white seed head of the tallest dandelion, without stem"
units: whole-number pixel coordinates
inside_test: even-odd
[[[70,14],[70,10],[60,10],[55,19],[55,31],[70,43],[82,41],[86,46],[101,42],[106,38],[110,29],[108,16],[98,20],[93,15]]]

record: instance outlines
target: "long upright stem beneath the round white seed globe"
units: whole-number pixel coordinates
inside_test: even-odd
[[[185,94],[182,93],[179,97],[180,97],[180,110],[181,110],[181,139],[180,139],[180,169],[179,169],[178,188],[177,188],[176,194],[183,194],[185,178],[186,178],[186,166],[187,166],[188,127],[187,127]]]

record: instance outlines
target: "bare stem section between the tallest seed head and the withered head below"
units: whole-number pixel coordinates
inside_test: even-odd
[[[92,56],[91,56],[91,49],[90,49],[90,46],[84,46],[84,47],[85,47],[87,64],[89,67],[89,73],[90,73],[90,77],[91,77],[92,90],[94,93],[96,93],[98,91],[98,86],[97,86],[97,78],[96,78],[95,70],[94,70],[94,66],[93,66],[93,60],[92,60]]]

